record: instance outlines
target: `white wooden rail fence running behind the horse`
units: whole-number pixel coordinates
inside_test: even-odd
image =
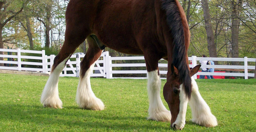
[[[9,58],[9,60],[0,60],[0,63],[5,63],[5,65],[9,66],[0,66],[0,69],[6,70],[18,70],[18,71],[37,71],[43,73],[49,73],[51,67],[53,65],[53,60],[55,55],[47,56],[45,55],[45,51],[32,51],[32,50],[22,50],[22,49],[0,49],[0,52],[11,52],[12,55],[0,55],[0,57]],[[29,56],[29,55],[22,55],[24,53],[33,53],[33,55],[37,56]],[[13,55],[15,54],[15,55]],[[38,56],[39,55],[39,56]],[[71,77],[78,77],[80,72],[80,62],[84,55],[72,55],[70,60],[67,61],[67,65],[63,69],[63,72],[60,76],[71,76]],[[12,61],[14,58],[14,61]],[[30,60],[33,59],[33,60]],[[25,61],[26,60],[26,61]],[[38,62],[34,62],[38,60]],[[129,60],[137,60],[138,63],[130,63]],[[146,68],[145,68],[145,61],[143,56],[138,57],[111,57],[109,56],[108,52],[103,52],[99,60],[96,61],[93,73],[91,77],[106,77],[106,78],[116,78],[113,76],[116,75],[136,75],[140,74],[143,77],[122,77],[122,78],[134,78],[134,79],[143,79],[146,78]],[[255,58],[211,58],[211,57],[196,57],[192,56],[189,57],[189,60],[192,60],[192,64],[189,67],[194,67],[198,64],[199,60],[213,60],[224,62],[232,62],[238,61],[243,62],[244,65],[233,66],[233,65],[203,65],[203,68],[215,68],[215,69],[222,69],[222,70],[239,70],[239,73],[229,73],[229,72],[198,72],[197,75],[215,75],[215,76],[237,76],[237,77],[244,77],[248,79],[248,77],[254,77],[254,73],[248,73],[248,70],[255,69]],[[32,62],[33,61],[33,62]],[[124,63],[126,61],[126,63]],[[167,74],[167,63],[164,60],[160,60],[158,66],[160,67],[160,74],[166,75]],[[121,62],[121,63],[120,63]],[[254,66],[248,66],[248,63],[254,63]],[[10,66],[11,65],[11,66]],[[31,66],[29,67],[24,67]],[[39,67],[39,68],[32,68],[32,67]],[[129,70],[118,70],[118,68],[128,68]],[[137,70],[138,67],[141,67],[142,70]],[[132,69],[134,68],[134,70]],[[194,76],[196,78],[196,75]]]

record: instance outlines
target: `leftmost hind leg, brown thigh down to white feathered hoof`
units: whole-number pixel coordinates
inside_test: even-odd
[[[54,58],[51,74],[41,95],[41,103],[47,107],[62,108],[62,102],[58,95],[59,75],[76,48],[85,40],[87,35],[90,34],[90,30],[84,28],[82,20],[76,20],[76,17],[70,17],[73,17],[73,15],[66,15],[67,25],[65,41],[61,51]]]

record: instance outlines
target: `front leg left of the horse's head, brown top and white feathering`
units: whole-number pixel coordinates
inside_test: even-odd
[[[160,98],[161,80],[158,70],[159,59],[154,59],[157,55],[153,55],[152,53],[144,56],[148,70],[148,120],[170,122],[172,118],[171,112],[166,109]]]

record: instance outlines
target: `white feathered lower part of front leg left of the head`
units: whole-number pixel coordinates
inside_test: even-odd
[[[158,70],[148,72],[148,119],[155,121],[171,121],[171,112],[166,109],[160,98],[161,80]]]

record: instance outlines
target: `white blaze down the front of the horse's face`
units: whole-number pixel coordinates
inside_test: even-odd
[[[175,126],[176,129],[183,129],[185,126],[186,120],[186,109],[188,105],[188,98],[185,95],[183,84],[180,85],[180,112],[177,115],[176,121],[172,124],[172,127]]]

